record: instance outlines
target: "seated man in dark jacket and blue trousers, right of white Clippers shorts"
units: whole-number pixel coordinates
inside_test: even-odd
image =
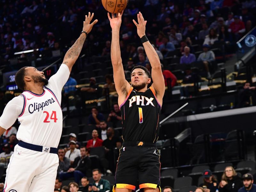
[[[66,180],[70,177],[75,177],[76,183],[79,183],[80,179],[86,176],[87,170],[91,167],[91,159],[85,147],[81,147],[80,152],[81,156],[76,157],[68,171],[60,173],[60,179]]]

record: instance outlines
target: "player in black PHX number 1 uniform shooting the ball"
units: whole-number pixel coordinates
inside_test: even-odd
[[[125,80],[119,46],[119,29],[122,15],[108,19],[112,28],[111,60],[114,71],[114,81],[118,93],[118,104],[123,121],[123,146],[116,168],[115,186],[113,191],[131,192],[135,186],[144,188],[145,192],[158,192],[160,181],[160,162],[156,141],[159,134],[159,115],[164,96],[164,76],[162,74],[158,55],[149,43],[146,35],[146,23],[142,14],[137,15],[138,35],[145,48],[148,60],[152,66],[150,73],[142,66],[136,66],[131,72],[132,86]]]

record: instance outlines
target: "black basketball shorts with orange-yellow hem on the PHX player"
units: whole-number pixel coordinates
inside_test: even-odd
[[[158,149],[153,143],[124,142],[116,167],[114,188],[135,190],[137,184],[139,188],[159,187],[161,166],[159,159]]]

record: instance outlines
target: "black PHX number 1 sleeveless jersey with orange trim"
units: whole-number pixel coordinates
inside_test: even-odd
[[[124,141],[156,143],[161,106],[156,100],[155,90],[152,87],[146,92],[137,92],[131,87],[120,109]]]

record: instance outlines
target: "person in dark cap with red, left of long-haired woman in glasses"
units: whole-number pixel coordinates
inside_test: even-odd
[[[215,192],[218,189],[219,183],[212,171],[207,169],[204,170],[204,183],[201,183],[199,187],[204,188],[204,192]]]

